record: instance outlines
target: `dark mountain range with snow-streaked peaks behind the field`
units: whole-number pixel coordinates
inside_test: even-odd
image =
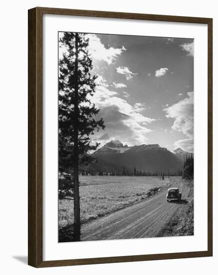
[[[173,152],[159,144],[124,145],[111,140],[92,153],[96,160],[88,169],[95,172],[117,172],[124,169],[176,172],[183,169],[184,157],[191,153],[178,148]]]

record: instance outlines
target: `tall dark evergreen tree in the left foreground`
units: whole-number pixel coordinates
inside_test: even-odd
[[[104,128],[104,121],[95,119],[99,109],[91,102],[97,76],[90,72],[89,39],[83,33],[64,32],[59,42],[64,49],[59,58],[59,163],[62,168],[72,166],[73,239],[80,240],[79,164],[88,162],[88,151],[97,148],[91,135]]]

